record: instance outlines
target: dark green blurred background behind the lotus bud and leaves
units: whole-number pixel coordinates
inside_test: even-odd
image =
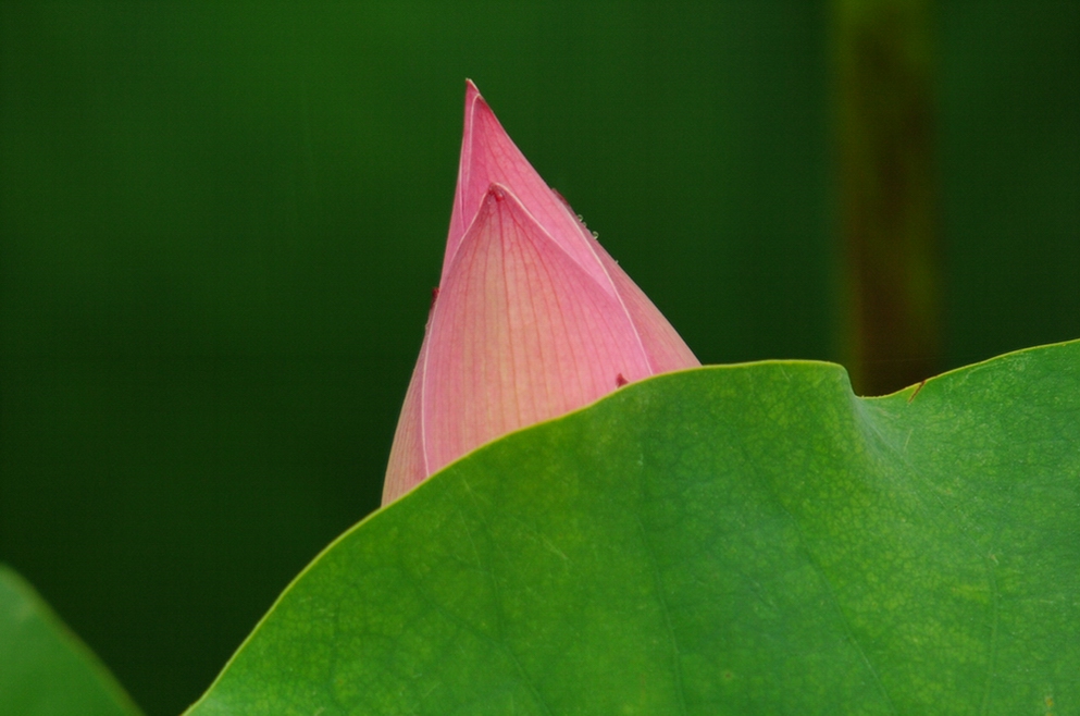
[[[378,504],[465,77],[703,362],[1080,337],[1071,0],[3,1],[0,560],[148,714]]]

